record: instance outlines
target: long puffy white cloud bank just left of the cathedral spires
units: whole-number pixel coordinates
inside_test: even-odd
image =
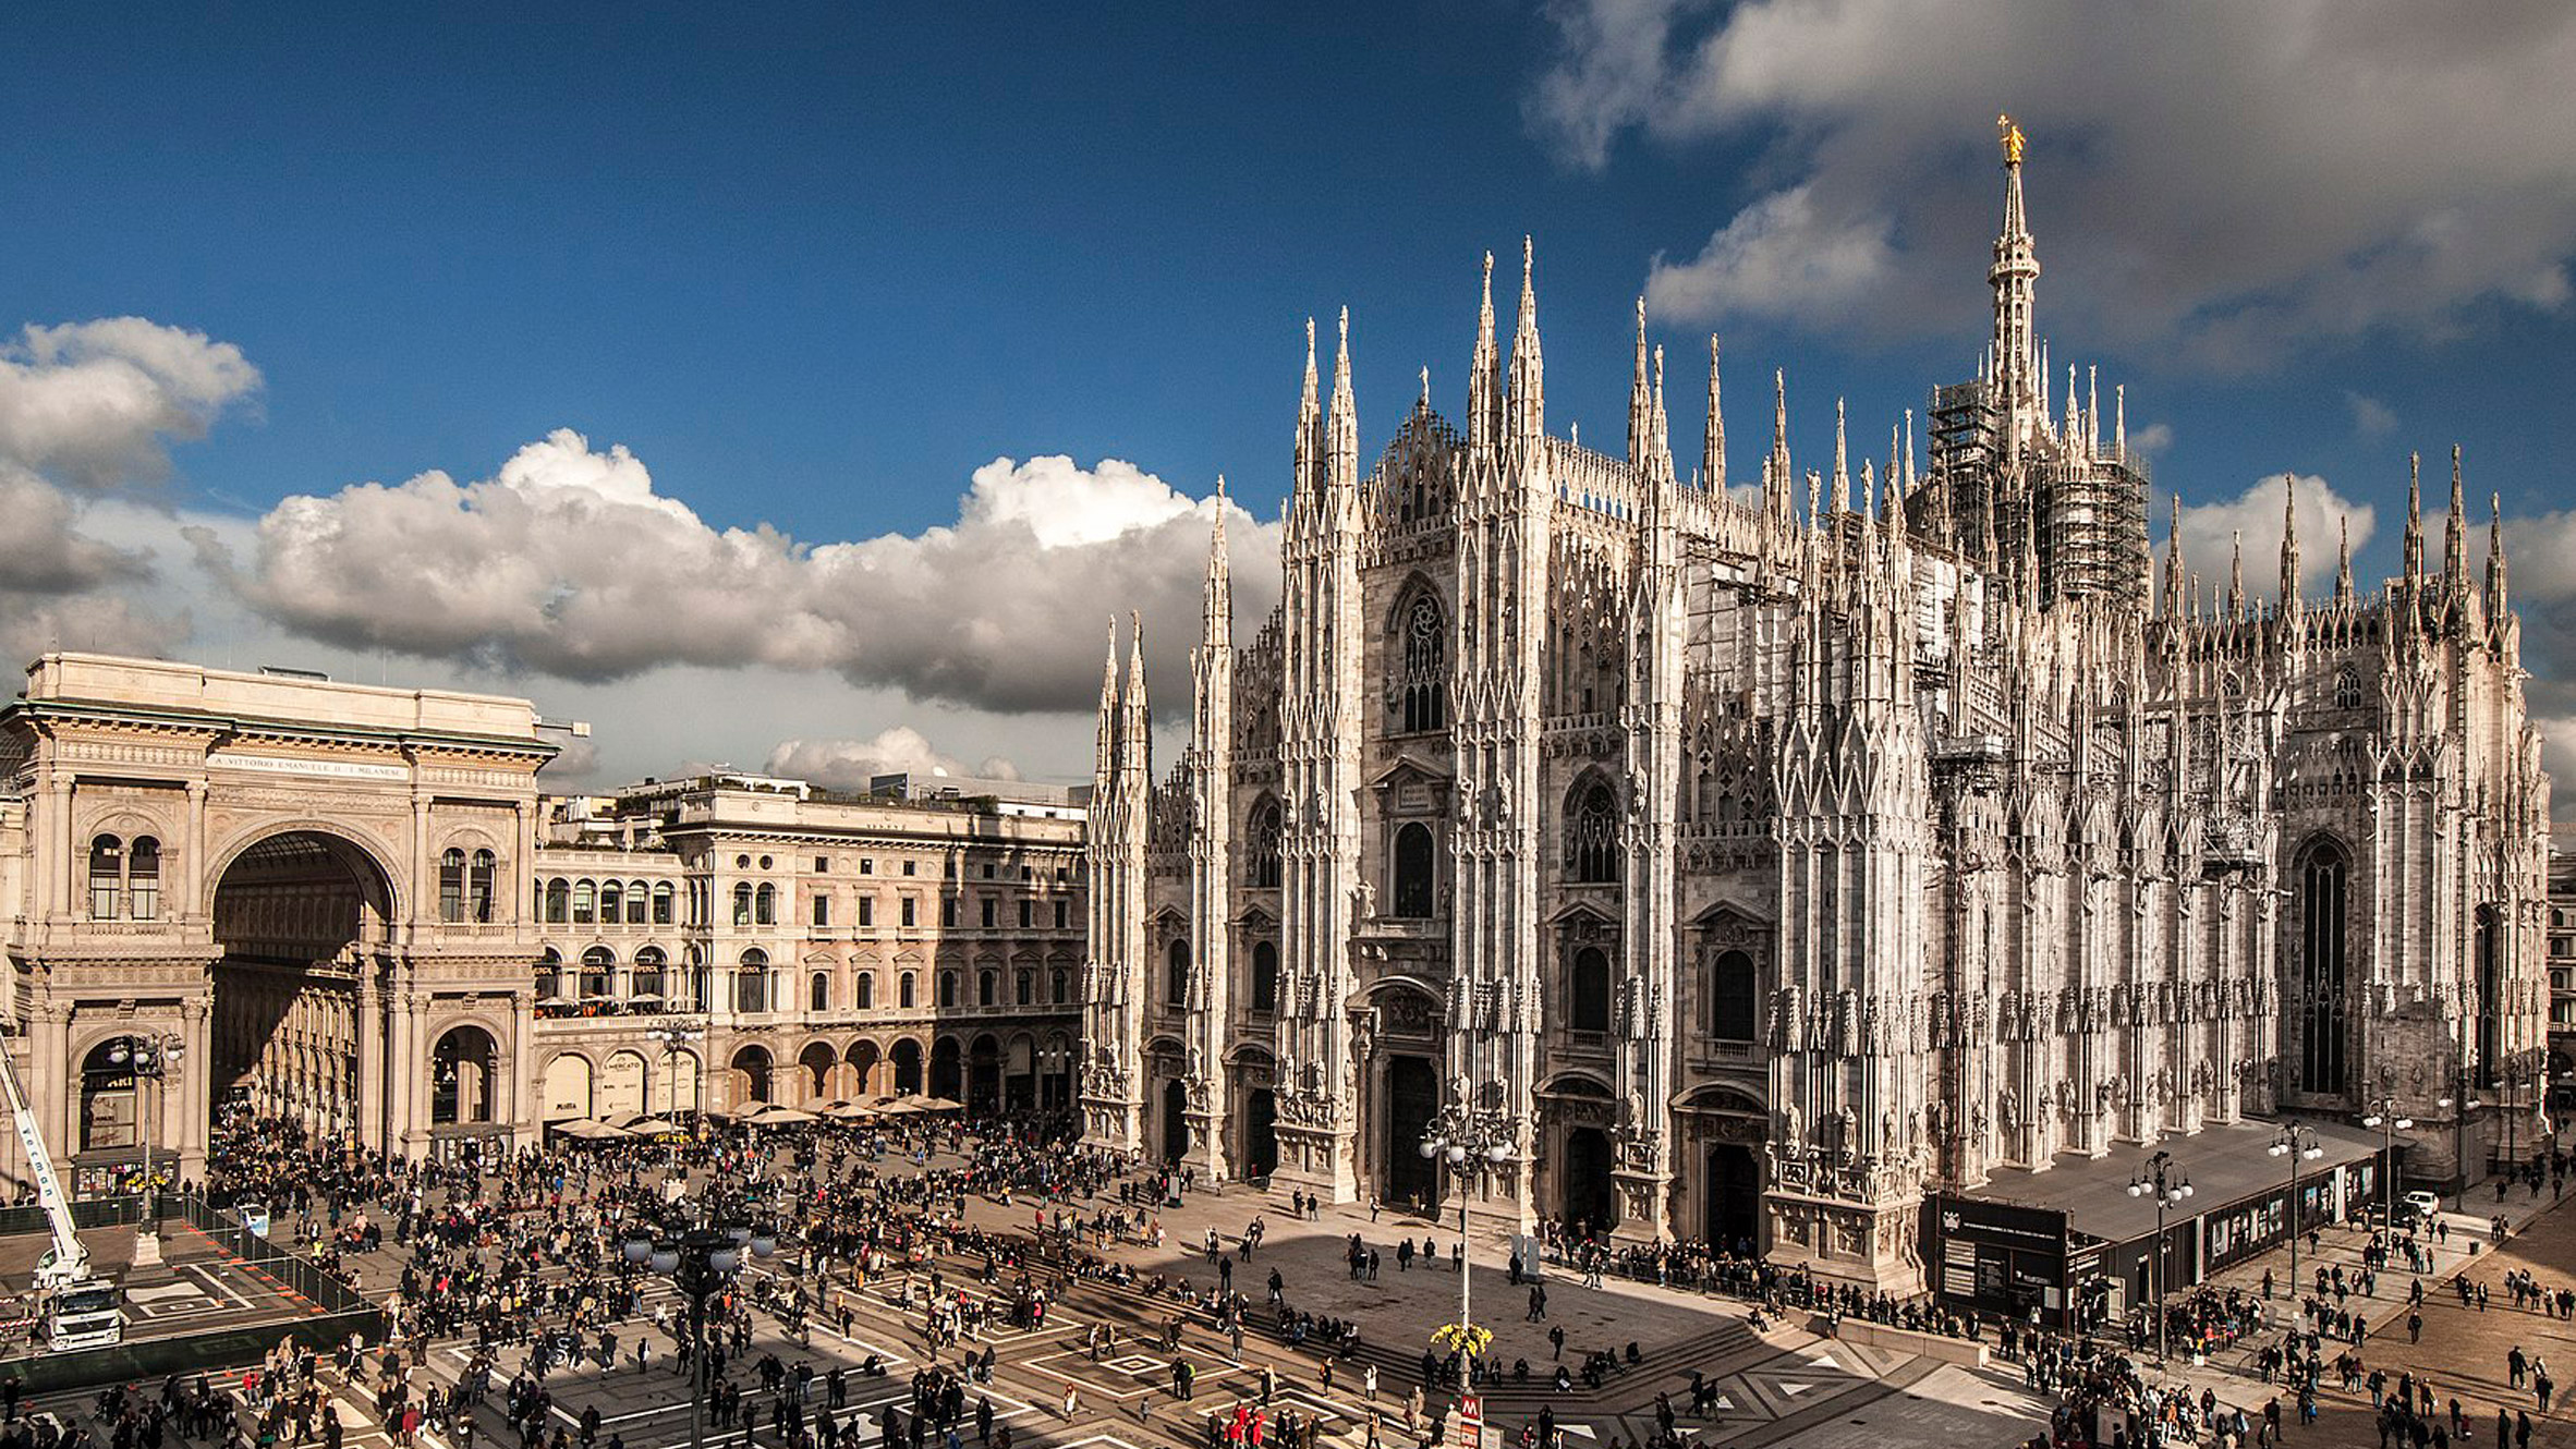
[[[487,481],[430,471],[283,499],[255,548],[198,535],[198,556],[270,623],[345,649],[592,682],[832,669],[914,700],[1079,710],[1110,600],[1146,613],[1167,679],[1182,669],[1216,507],[1115,458],[994,458],[956,525],[799,543],[711,528],[623,448],[559,430]],[[1226,507],[1236,607],[1260,620],[1278,528]]]

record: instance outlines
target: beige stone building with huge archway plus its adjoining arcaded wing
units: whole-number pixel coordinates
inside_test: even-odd
[[[894,1091],[1072,1107],[1069,790],[541,795],[556,749],[528,700],[39,659],[0,710],[5,1050],[70,1192],[147,1150],[204,1176],[229,1102],[407,1156]],[[180,1048],[162,1076],[137,1037]]]

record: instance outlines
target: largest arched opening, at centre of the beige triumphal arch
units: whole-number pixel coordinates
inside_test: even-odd
[[[211,1102],[384,1140],[381,1063],[358,1060],[358,983],[394,888],[355,842],[312,829],[240,849],[214,885]],[[417,1045],[412,1050],[420,1050]],[[404,1081],[417,1071],[402,1063]],[[397,1114],[397,1120],[402,1120]]]

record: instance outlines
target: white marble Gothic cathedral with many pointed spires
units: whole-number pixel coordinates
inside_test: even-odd
[[[1334,1202],[1708,1238],[1924,1284],[1924,1194],[2251,1114],[2535,1143],[2548,777],[2501,530],[2277,602],[2148,540],[2123,401],[2050,365],[2007,134],[1994,327],[1888,456],[1837,409],[1695,476],[1643,311],[1623,458],[1548,432],[1528,252],[1463,422],[1370,471],[1309,327],[1285,592],[1208,558],[1185,757],[1100,692],[1090,1140]],[[2107,427],[2105,427],[2107,422]],[[2293,510],[2295,517],[2295,510]],[[1221,525],[1218,525],[1221,528]],[[2262,564],[2272,564],[2264,558]],[[1445,1168],[1432,1130],[1510,1145]]]

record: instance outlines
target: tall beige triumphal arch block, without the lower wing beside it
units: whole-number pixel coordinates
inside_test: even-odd
[[[554,752],[528,700],[39,659],[0,710],[0,1014],[67,1186],[106,1192],[142,1150],[196,1179],[222,1109],[404,1153],[440,1091],[538,1122]],[[185,1050],[139,1078],[137,1037]],[[471,1084],[438,1081],[446,1040],[479,1042]]]

